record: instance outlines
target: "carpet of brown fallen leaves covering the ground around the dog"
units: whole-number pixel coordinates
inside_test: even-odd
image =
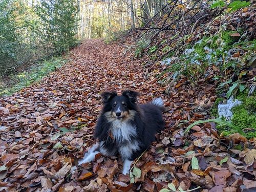
[[[40,83],[0,99],[1,191],[159,191],[168,183],[183,190],[201,187],[194,191],[256,190],[254,139],[220,139],[215,123],[183,134],[188,124],[210,118],[213,84],[188,89],[184,80],[161,87],[157,66],[148,73],[121,44],[100,39],[84,41],[70,60]],[[134,184],[121,174],[118,157],[99,154],[77,165],[94,142],[99,93],[126,88],[138,90],[140,102],[159,96],[165,102],[166,129],[136,161],[141,175]]]

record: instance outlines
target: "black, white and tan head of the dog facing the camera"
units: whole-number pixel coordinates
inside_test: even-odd
[[[104,104],[103,113],[108,112],[109,118],[121,120],[129,118],[131,113],[136,111],[136,101],[139,93],[132,90],[125,90],[122,95],[115,91],[106,91],[101,94]]]

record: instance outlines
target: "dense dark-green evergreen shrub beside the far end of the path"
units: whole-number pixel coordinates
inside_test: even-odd
[[[55,53],[62,53],[78,44],[77,6],[75,0],[41,0],[36,6],[39,17],[42,45],[52,47]]]

